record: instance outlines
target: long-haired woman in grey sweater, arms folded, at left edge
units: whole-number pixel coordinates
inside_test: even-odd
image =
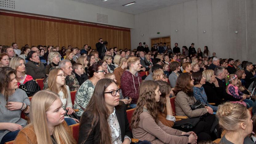
[[[10,67],[0,68],[0,143],[15,139],[18,132],[27,125],[20,117],[30,112],[30,101],[25,91],[18,89],[15,70]]]

